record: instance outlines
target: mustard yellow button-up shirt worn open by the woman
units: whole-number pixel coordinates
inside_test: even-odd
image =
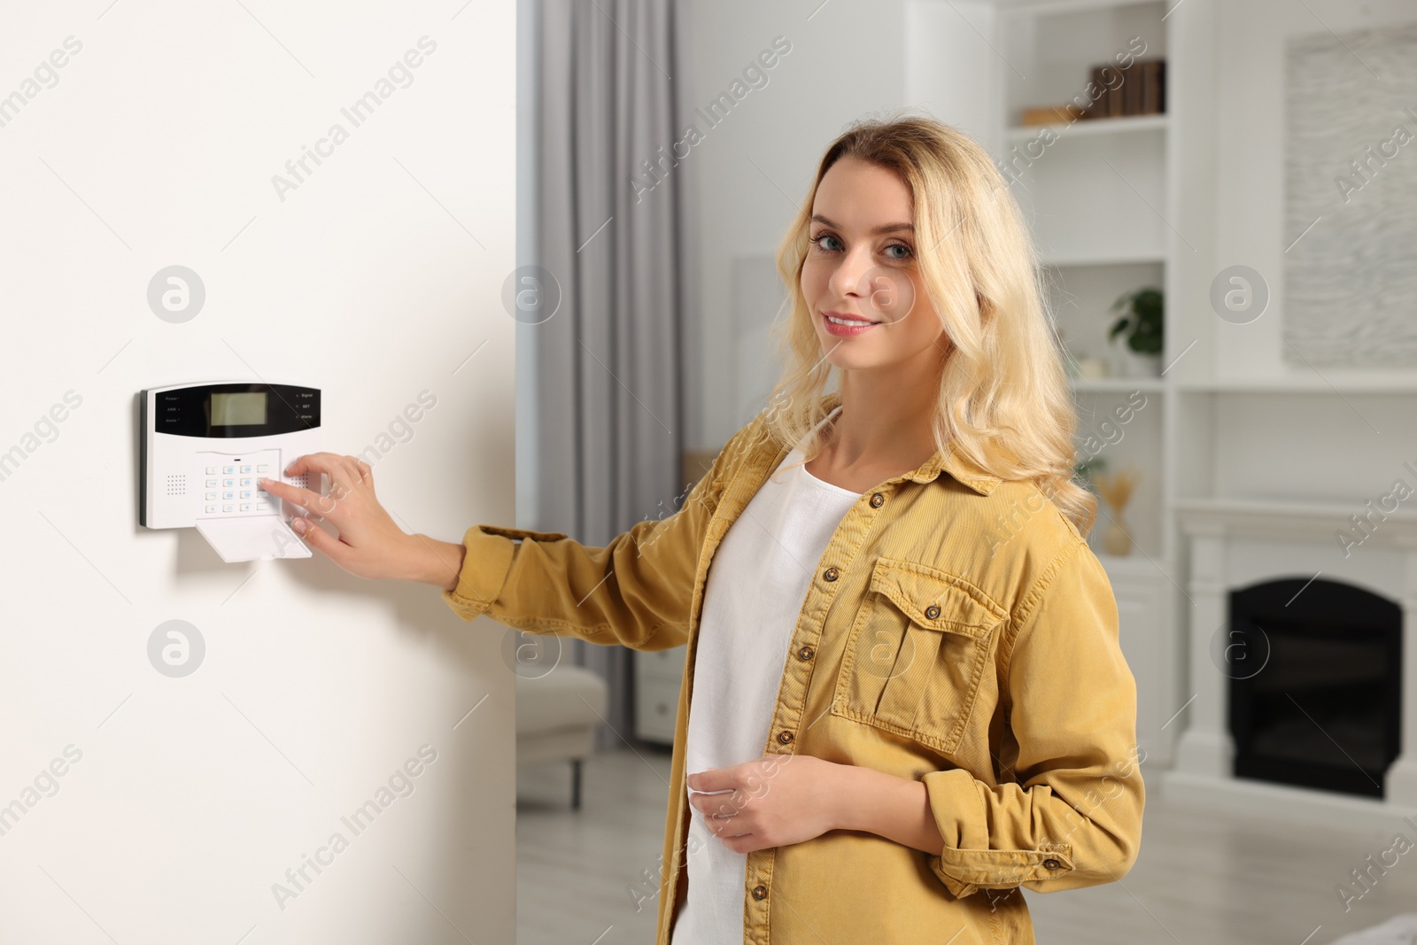
[[[839,402],[822,400],[828,411]],[[442,592],[465,621],[486,613],[638,650],[689,645],[656,945],[669,945],[687,883],[683,755],[704,581],[728,526],[788,453],[767,432],[760,414],[679,511],[605,547],[473,526],[458,587]],[[762,751],[924,782],[944,849],[829,830],[752,851],[745,945],[1034,942],[1019,887],[1108,883],[1136,859],[1135,731],[1117,602],[1087,541],[1033,483],[937,451],[863,493],[828,543]]]

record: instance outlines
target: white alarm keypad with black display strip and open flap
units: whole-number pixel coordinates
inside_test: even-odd
[[[225,381],[153,387],[142,401],[139,524],[191,528],[222,561],[309,558],[262,476],[309,489],[319,473],[286,476],[319,449],[320,391]]]

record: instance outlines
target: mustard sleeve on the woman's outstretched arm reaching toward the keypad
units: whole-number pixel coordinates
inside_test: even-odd
[[[486,613],[529,633],[639,650],[686,643],[699,553],[747,431],[728,441],[676,513],[639,521],[604,547],[558,531],[472,526],[458,585],[444,601],[463,621]]]

